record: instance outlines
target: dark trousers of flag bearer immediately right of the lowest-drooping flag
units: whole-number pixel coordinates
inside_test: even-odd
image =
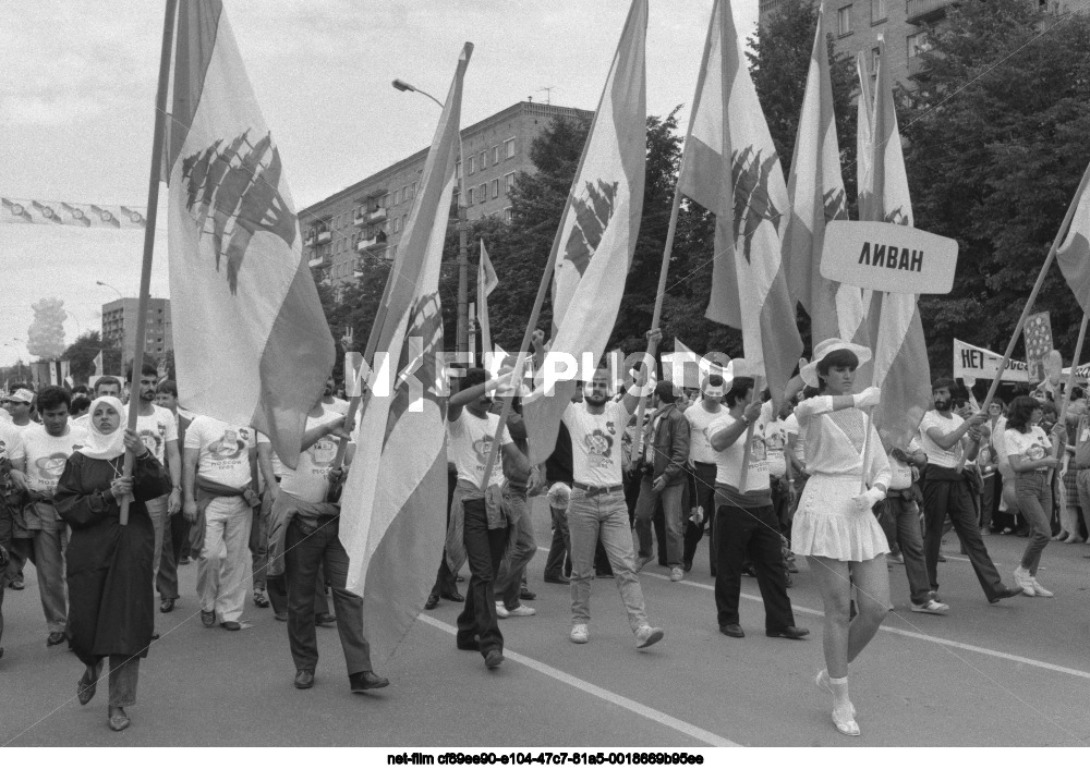
[[[481,644],[481,654],[493,649],[504,650],[504,635],[496,618],[494,587],[507,547],[506,528],[488,528],[484,499],[465,500],[463,541],[465,560],[470,564],[470,586],[465,591],[465,606],[458,615],[458,643],[471,644],[473,636]]]

